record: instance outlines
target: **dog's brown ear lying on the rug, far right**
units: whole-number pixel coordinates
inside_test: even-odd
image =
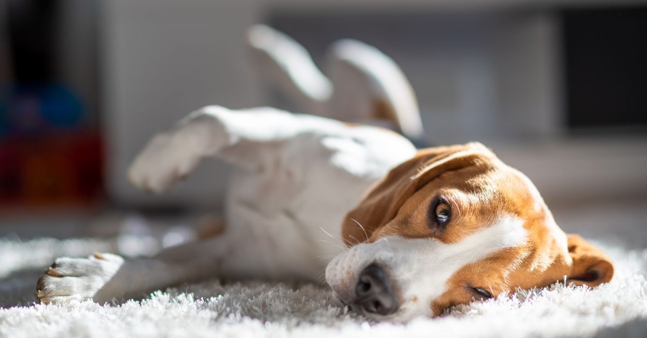
[[[568,235],[573,269],[568,281],[577,286],[598,286],[613,278],[613,262],[600,249],[578,235]]]

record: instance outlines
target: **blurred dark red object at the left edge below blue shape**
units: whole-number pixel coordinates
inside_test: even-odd
[[[103,160],[98,131],[7,137],[0,141],[0,207],[100,202]]]

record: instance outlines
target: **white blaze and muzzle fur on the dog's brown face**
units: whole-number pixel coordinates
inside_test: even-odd
[[[345,302],[351,302],[358,275],[367,265],[377,262],[389,271],[404,299],[394,317],[402,320],[432,315],[430,304],[444,293],[447,280],[456,271],[500,249],[521,246],[526,240],[523,220],[510,216],[455,244],[435,238],[388,236],[335,257],[326,269],[326,281]],[[410,301],[414,297],[417,302]]]

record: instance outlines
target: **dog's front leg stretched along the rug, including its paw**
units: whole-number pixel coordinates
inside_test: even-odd
[[[182,282],[215,276],[226,255],[224,238],[168,248],[150,259],[123,259],[111,253],[95,253],[87,259],[63,257],[45,270],[36,286],[41,302],[62,304],[92,298],[109,302],[142,297]]]

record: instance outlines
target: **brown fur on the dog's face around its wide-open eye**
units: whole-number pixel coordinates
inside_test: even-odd
[[[411,195],[396,217],[374,233],[371,240],[399,235],[457,243],[501,219],[514,218],[521,227],[529,220],[541,223],[547,215],[545,204],[531,188],[534,185],[527,178],[504,165],[490,166],[487,171],[449,171]],[[435,225],[433,218],[441,202],[446,202],[452,212],[446,226]],[[534,227],[531,231],[535,231]]]

